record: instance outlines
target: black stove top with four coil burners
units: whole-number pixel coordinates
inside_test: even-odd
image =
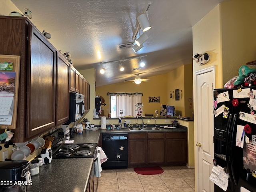
[[[97,143],[62,144],[52,158],[96,158],[96,147]]]

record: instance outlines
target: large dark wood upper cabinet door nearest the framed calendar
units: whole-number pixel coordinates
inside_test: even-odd
[[[27,133],[32,137],[55,125],[55,61],[54,47],[29,25]],[[31,32],[31,34],[30,34]]]

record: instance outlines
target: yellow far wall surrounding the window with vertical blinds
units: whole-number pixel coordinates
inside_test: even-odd
[[[134,82],[122,82],[116,84],[110,84],[106,86],[96,87],[96,95],[102,96],[105,99],[106,106],[104,106],[104,114],[108,114],[110,104],[109,104],[109,96],[107,96],[107,92],[119,92],[119,93],[143,93],[142,103],[143,103],[143,113],[151,113],[155,114],[155,110],[159,111],[161,104],[167,104],[166,90],[167,83],[166,78],[167,74],[152,76],[149,77],[149,82],[142,82],[137,85]],[[160,103],[158,102],[148,102],[148,97],[158,97],[160,96]],[[103,106],[102,106],[103,107]]]

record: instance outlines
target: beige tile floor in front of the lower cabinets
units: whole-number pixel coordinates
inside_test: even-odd
[[[194,192],[194,169],[162,167],[158,175],[140,175],[133,168],[103,170],[97,192]]]

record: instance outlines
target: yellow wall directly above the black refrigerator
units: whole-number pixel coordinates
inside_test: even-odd
[[[255,0],[233,0],[220,4],[223,85],[238,75],[242,65],[256,60],[255,7]]]

